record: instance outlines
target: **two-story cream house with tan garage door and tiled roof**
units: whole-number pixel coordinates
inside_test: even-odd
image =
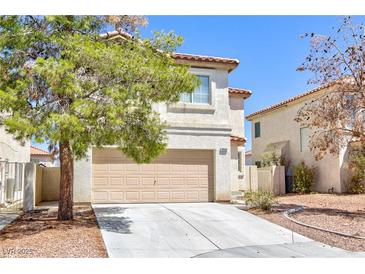
[[[117,34],[109,34],[109,37]],[[156,104],[168,124],[168,149],[138,165],[115,147],[90,148],[74,165],[75,202],[228,201],[243,184],[244,100],[251,92],[229,88],[239,61],[175,53],[201,80],[179,103]]]

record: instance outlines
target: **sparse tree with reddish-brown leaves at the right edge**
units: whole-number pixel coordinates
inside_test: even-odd
[[[328,91],[306,103],[295,121],[312,129],[316,159],[349,142],[365,143],[365,26],[345,17],[333,36],[306,33],[311,47],[298,71],[314,73],[310,84]]]

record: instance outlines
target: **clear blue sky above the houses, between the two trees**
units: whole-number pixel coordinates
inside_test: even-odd
[[[152,31],[174,31],[184,37],[177,51],[237,58],[240,65],[229,85],[252,90],[245,114],[311,88],[308,73],[296,68],[306,57],[305,32],[333,33],[340,16],[148,16],[143,36]],[[280,125],[278,125],[280,126]],[[250,122],[245,122],[246,148],[251,148]]]

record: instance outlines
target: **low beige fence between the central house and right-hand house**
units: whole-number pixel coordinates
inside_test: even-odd
[[[275,195],[285,194],[285,167],[257,168],[245,166],[244,191],[269,191]]]

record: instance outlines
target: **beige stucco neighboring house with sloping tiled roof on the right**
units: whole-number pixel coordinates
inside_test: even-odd
[[[306,102],[332,88],[333,85],[322,86],[248,115],[246,119],[252,123],[252,163],[260,165],[264,153],[275,152],[284,156],[289,176],[293,165],[301,161],[315,167],[315,191],[328,192],[332,188],[338,193],[346,191],[346,149],[339,155],[326,155],[316,161],[308,147],[311,131],[294,121]]]

